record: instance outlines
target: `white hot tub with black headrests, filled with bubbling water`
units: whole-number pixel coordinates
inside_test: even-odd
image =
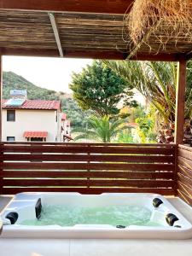
[[[155,194],[20,193],[1,218],[1,237],[192,238],[192,224]]]

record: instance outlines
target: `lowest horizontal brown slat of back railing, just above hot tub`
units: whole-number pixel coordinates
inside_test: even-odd
[[[156,188],[3,188],[4,195],[15,195],[20,192],[79,192],[80,194],[102,193],[155,193],[160,195],[173,195],[174,189]]]

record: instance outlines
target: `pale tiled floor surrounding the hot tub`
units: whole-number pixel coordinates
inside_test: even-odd
[[[0,207],[10,198],[0,197]],[[192,209],[169,199],[192,222]],[[0,256],[192,256],[191,240],[0,239]]]

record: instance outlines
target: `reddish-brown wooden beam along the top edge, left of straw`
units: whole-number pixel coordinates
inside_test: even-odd
[[[0,9],[125,14],[133,0],[0,0]]]

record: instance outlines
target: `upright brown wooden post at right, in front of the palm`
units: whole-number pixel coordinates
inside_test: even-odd
[[[183,144],[185,87],[187,61],[182,58],[177,64],[177,95],[175,115],[175,143]]]

